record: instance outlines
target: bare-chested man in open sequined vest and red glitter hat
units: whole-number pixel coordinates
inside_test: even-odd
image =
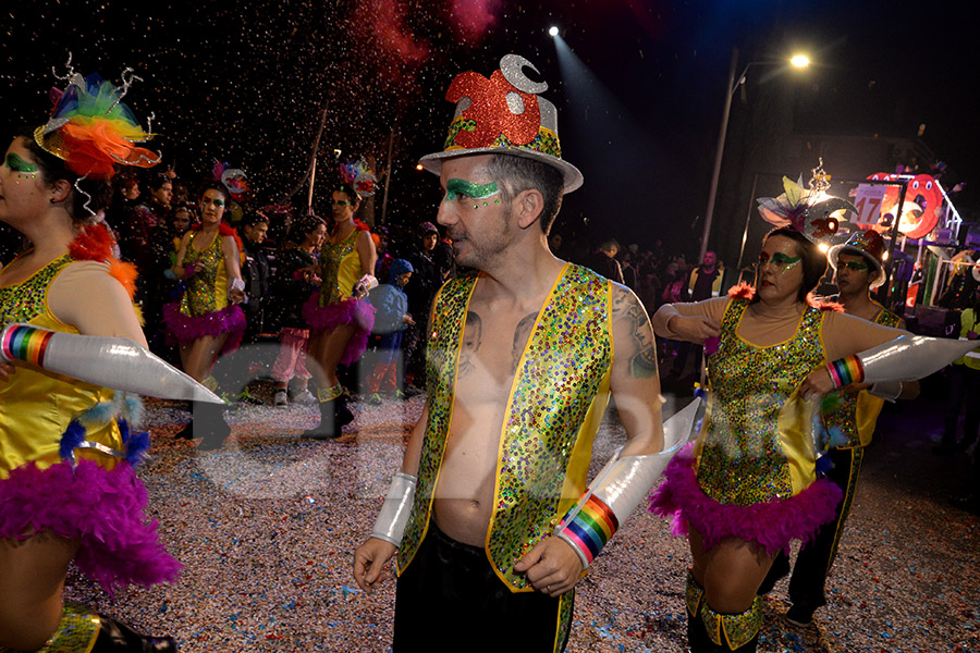
[[[436,297],[426,408],[354,555],[370,592],[397,553],[394,651],[564,650],[575,584],[673,453],[658,453],[642,305],[548,248],[563,194],[583,180],[561,159],[547,84],[526,67],[509,54],[489,79],[457,76],[444,151],[421,159],[440,176],[456,262],[478,273]],[[610,394],[626,443],[587,489]]]

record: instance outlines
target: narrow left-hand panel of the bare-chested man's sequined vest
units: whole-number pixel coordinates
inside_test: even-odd
[[[433,490],[442,466],[445,438],[453,407],[453,385],[463,337],[464,316],[476,276],[462,276],[446,283],[436,296],[431,331],[427,337],[427,394],[429,421],[418,464],[415,501],[399,547],[399,574],[405,570],[421,544],[429,526]]]

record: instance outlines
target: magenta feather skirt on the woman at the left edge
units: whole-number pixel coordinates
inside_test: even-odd
[[[182,565],[163,550],[145,507],[146,488],[126,463],[111,471],[84,458],[74,469],[66,461],[45,470],[28,463],[0,480],[0,538],[44,531],[77,540],[75,565],[109,594],[175,581]]]

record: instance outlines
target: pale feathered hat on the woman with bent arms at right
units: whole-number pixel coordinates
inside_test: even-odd
[[[812,174],[808,187],[804,187],[803,176],[797,182],[784,176],[782,195],[757,198],[762,220],[795,229],[813,242],[837,233],[838,220],[833,213],[849,211],[857,214],[857,209],[846,199],[826,194],[831,177],[823,170],[823,159]]]

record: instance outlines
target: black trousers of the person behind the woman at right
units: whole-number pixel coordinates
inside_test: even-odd
[[[789,578],[789,601],[793,605],[804,608],[817,609],[826,605],[824,586],[826,575],[834,564],[837,555],[837,545],[844,532],[844,523],[850,515],[850,504],[857,489],[858,476],[861,472],[861,463],[865,459],[865,447],[853,449],[830,449],[828,455],[834,464],[833,469],[826,473],[828,480],[836,484],[844,492],[844,500],[837,506],[836,517],[833,521],[824,523],[817,531],[817,535],[796,556],[793,566],[793,576]],[[780,553],[772,564],[769,576],[762,582],[760,592],[765,592],[789,570],[789,560],[785,553]]]

